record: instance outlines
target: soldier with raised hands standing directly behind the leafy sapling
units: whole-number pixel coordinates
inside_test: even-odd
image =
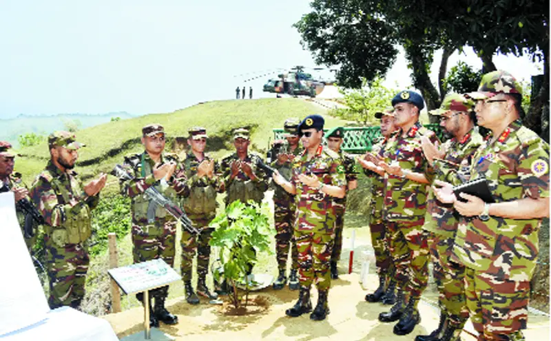
[[[222,188],[225,189],[226,207],[235,200],[247,203],[253,200],[259,203],[264,198],[264,192],[268,189],[266,173],[258,167],[262,161],[260,155],[249,152],[249,130],[236,129],[233,132],[233,145],[236,152],[226,156],[220,163]],[[252,249],[256,252],[255,249]],[[249,265],[246,273],[249,276],[253,271],[253,265]],[[222,285],[223,287],[223,285]]]

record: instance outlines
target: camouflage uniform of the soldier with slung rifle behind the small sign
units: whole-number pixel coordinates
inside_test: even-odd
[[[151,136],[154,134],[164,134],[161,125],[146,125],[143,127],[143,134]],[[188,196],[189,187],[185,169],[174,154],[161,154],[160,164],[174,162],[176,170],[169,181],[163,184],[154,178],[153,168],[155,162],[147,152],[129,154],[125,157],[123,167],[132,174],[134,180],[121,181],[121,193],[131,198],[132,211],[132,244],[134,262],[145,262],[161,258],[168,265],[174,265],[174,256],[176,252],[176,218],[171,216],[164,207],[154,207],[154,216],[148,217],[148,209],[154,202],[147,198],[145,190],[151,186],[158,189],[173,203],[178,202],[178,197]],[[149,220],[149,219],[152,220]],[[163,305],[168,296],[168,285],[158,289],[149,290],[149,298],[155,298],[156,310],[163,309]],[[143,293],[136,295],[138,300],[143,300]]]

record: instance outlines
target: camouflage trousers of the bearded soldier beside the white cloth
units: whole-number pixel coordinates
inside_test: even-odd
[[[86,247],[79,244],[54,245],[48,236],[44,237],[45,259],[50,278],[51,309],[68,305],[78,308],[84,298],[84,284],[90,257]]]

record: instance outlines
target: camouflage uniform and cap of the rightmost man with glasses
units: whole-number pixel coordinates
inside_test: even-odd
[[[479,92],[520,94],[521,87],[503,71],[483,76]],[[489,92],[489,93],[488,93]],[[493,143],[488,136],[472,158],[471,178],[484,177],[496,203],[549,197],[549,145],[514,121]],[[453,260],[466,269],[467,306],[479,340],[524,340],[530,279],[538,256],[541,218],[498,216],[462,218]]]

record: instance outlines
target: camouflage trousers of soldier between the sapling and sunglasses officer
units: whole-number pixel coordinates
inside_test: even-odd
[[[287,269],[287,258],[291,249],[291,269],[298,269],[298,250],[293,236],[295,210],[289,203],[277,203],[274,200],[273,221],[275,224],[275,255],[278,259],[278,269]]]

